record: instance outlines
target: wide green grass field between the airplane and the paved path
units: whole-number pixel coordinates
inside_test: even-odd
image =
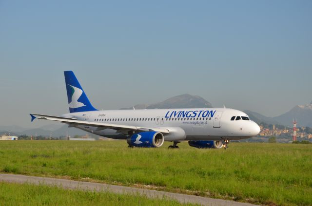
[[[0,171],[145,187],[266,205],[312,205],[312,145],[200,150],[125,141],[1,141]]]

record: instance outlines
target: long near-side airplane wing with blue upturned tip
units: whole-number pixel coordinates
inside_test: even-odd
[[[137,126],[129,126],[129,125],[117,125],[117,124],[108,124],[108,123],[101,123],[101,122],[89,122],[89,121],[82,121],[77,120],[76,118],[67,118],[67,117],[60,117],[60,116],[50,116],[44,114],[30,114],[31,121],[34,119],[45,119],[45,120],[52,120],[58,121],[62,123],[68,124],[68,127],[77,127],[79,125],[89,126],[89,127],[97,127],[96,131],[105,130],[105,129],[113,129],[120,132],[124,131],[158,131],[164,134],[168,134],[169,131],[167,129],[161,128],[145,128],[145,127],[137,127]]]

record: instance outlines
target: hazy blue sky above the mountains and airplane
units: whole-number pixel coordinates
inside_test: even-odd
[[[312,100],[311,0],[0,1],[0,125],[179,94],[267,116]],[[44,123],[42,123],[44,122]]]

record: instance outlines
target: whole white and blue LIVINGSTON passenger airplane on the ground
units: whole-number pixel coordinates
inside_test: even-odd
[[[60,116],[31,113],[34,119],[68,124],[103,137],[124,139],[128,147],[227,148],[229,141],[258,135],[259,126],[244,112],[228,108],[97,110],[72,71],[64,71],[69,113]]]

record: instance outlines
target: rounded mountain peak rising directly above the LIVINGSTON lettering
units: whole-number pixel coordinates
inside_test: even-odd
[[[181,94],[171,97],[162,102],[154,104],[139,104],[134,106],[135,109],[168,109],[168,108],[212,108],[210,102],[200,96],[191,94]],[[131,108],[123,108],[123,110],[131,110]]]

